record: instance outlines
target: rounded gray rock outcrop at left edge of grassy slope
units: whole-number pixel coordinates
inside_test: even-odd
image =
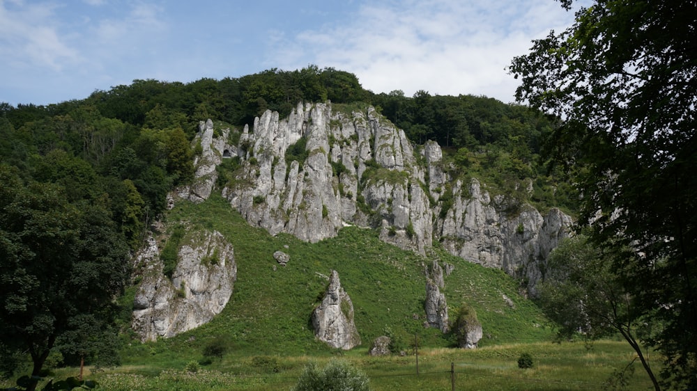
[[[135,257],[143,280],[135,296],[133,330],[142,341],[173,337],[210,321],[230,299],[237,278],[233,248],[219,232],[200,232],[181,246],[171,281],[153,237]]]

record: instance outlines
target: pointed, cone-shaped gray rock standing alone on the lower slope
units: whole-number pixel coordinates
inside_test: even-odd
[[[312,312],[312,326],[314,335],[333,348],[348,350],[360,345],[360,335],[353,323],[353,303],[335,270],[322,303]]]

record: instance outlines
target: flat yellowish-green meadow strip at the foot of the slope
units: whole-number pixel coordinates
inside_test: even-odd
[[[533,367],[519,369],[523,353],[533,358]],[[158,353],[160,354],[160,353]],[[153,370],[151,365],[125,365],[90,373],[103,389],[121,390],[289,390],[308,362],[323,367],[336,355],[260,356],[229,353],[222,360],[185,372],[189,360],[176,360],[169,367]],[[602,390],[613,372],[623,369],[634,353],[624,342],[602,341],[588,348],[582,342],[553,344],[502,344],[476,350],[423,348],[419,351],[419,374],[415,355],[374,358],[359,348],[341,357],[362,369],[373,390],[450,390],[451,364],[457,390]],[[656,357],[652,357],[654,365]],[[635,363],[627,390],[651,388],[648,376]],[[75,374],[75,369],[56,371],[56,378]],[[3,386],[0,383],[0,386]]]

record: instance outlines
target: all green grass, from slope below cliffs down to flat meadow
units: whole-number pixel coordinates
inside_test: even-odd
[[[545,326],[544,316],[532,302],[516,294],[514,280],[501,271],[438,251],[442,261],[455,265],[445,278],[451,310],[468,301],[477,310],[484,334],[489,335],[480,341],[480,349],[450,349],[450,337],[422,327],[422,262],[429,260],[383,244],[370,230],[345,228],[339,237],[318,244],[287,235],[271,237],[264,230],[250,228],[220,196],[201,205],[181,203],[168,220],[188,221],[194,229],[218,230],[231,241],[238,264],[233,297],[222,314],[195,330],[147,344],[129,341],[121,367],[88,372],[105,389],[289,390],[307,362],[323,366],[342,356],[368,374],[374,390],[447,390],[451,363],[459,390],[589,390],[604,388],[608,376],[634,357],[625,342],[599,342],[590,350],[580,342],[551,343],[552,331]],[[291,255],[288,266],[277,266],[276,271],[275,250]],[[348,352],[314,340],[308,324],[327,284],[317,273],[328,275],[331,269],[339,271],[342,285],[351,295],[363,339],[362,346]],[[514,308],[505,303],[503,294],[514,301]],[[413,319],[413,314],[419,319]],[[405,346],[418,333],[420,375],[415,375],[411,349],[405,357],[367,355],[370,342],[383,334],[385,326]],[[188,363],[204,358],[203,347],[216,337],[229,341],[227,353],[196,374],[183,371]],[[516,360],[523,352],[533,356],[533,369],[517,368]],[[657,365],[656,358],[652,359]],[[76,368],[56,369],[54,376],[76,373]],[[0,382],[0,386],[12,383]],[[628,389],[648,386],[648,376],[637,368]]]

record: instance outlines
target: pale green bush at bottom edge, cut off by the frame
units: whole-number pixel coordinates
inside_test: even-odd
[[[296,391],[324,390],[370,390],[368,376],[348,362],[332,360],[324,369],[319,370],[314,362],[305,367],[293,388]]]

